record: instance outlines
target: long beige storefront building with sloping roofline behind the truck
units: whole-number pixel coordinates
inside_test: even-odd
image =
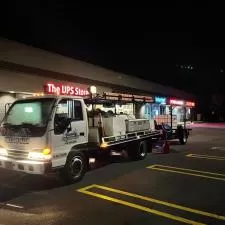
[[[154,96],[182,96],[193,99],[194,96],[183,91],[162,86],[150,81],[126,74],[117,73],[62,55],[26,46],[17,42],[0,39],[0,120],[7,107],[17,98],[44,92],[85,94],[89,86],[96,86],[98,93],[123,92],[149,96],[153,100],[146,106],[140,106],[139,117],[153,119],[167,113],[166,98]],[[62,88],[62,85],[63,88]],[[46,91],[46,90],[45,90]],[[125,108],[116,106],[118,113],[136,114],[132,104]]]

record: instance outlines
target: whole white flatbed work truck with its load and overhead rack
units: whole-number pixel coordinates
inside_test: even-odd
[[[0,167],[39,175],[59,171],[63,180],[74,183],[99,154],[125,150],[131,160],[144,159],[161,132],[152,130],[149,120],[116,112],[103,115],[96,106],[133,103],[135,107],[148,97],[90,93],[16,100],[0,126]]]

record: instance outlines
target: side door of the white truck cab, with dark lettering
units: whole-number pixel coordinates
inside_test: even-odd
[[[88,141],[85,110],[82,101],[79,99],[62,99],[59,101],[54,115],[54,131],[51,135],[51,145],[55,158],[65,158],[73,146]],[[61,129],[60,127],[63,127],[63,124],[66,123],[68,126]]]

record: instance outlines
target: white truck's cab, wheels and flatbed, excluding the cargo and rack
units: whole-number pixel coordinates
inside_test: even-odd
[[[60,169],[62,178],[72,183],[84,176],[91,153],[131,146],[130,155],[141,159],[147,153],[146,140],[159,135],[144,128],[101,137],[99,127],[91,128],[88,123],[86,104],[78,96],[46,95],[15,101],[0,125],[0,167],[30,174]]]

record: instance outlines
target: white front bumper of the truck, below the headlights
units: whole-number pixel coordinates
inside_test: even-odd
[[[32,160],[14,160],[0,156],[0,168],[20,171],[29,174],[43,175],[51,171],[51,162],[38,162]]]

